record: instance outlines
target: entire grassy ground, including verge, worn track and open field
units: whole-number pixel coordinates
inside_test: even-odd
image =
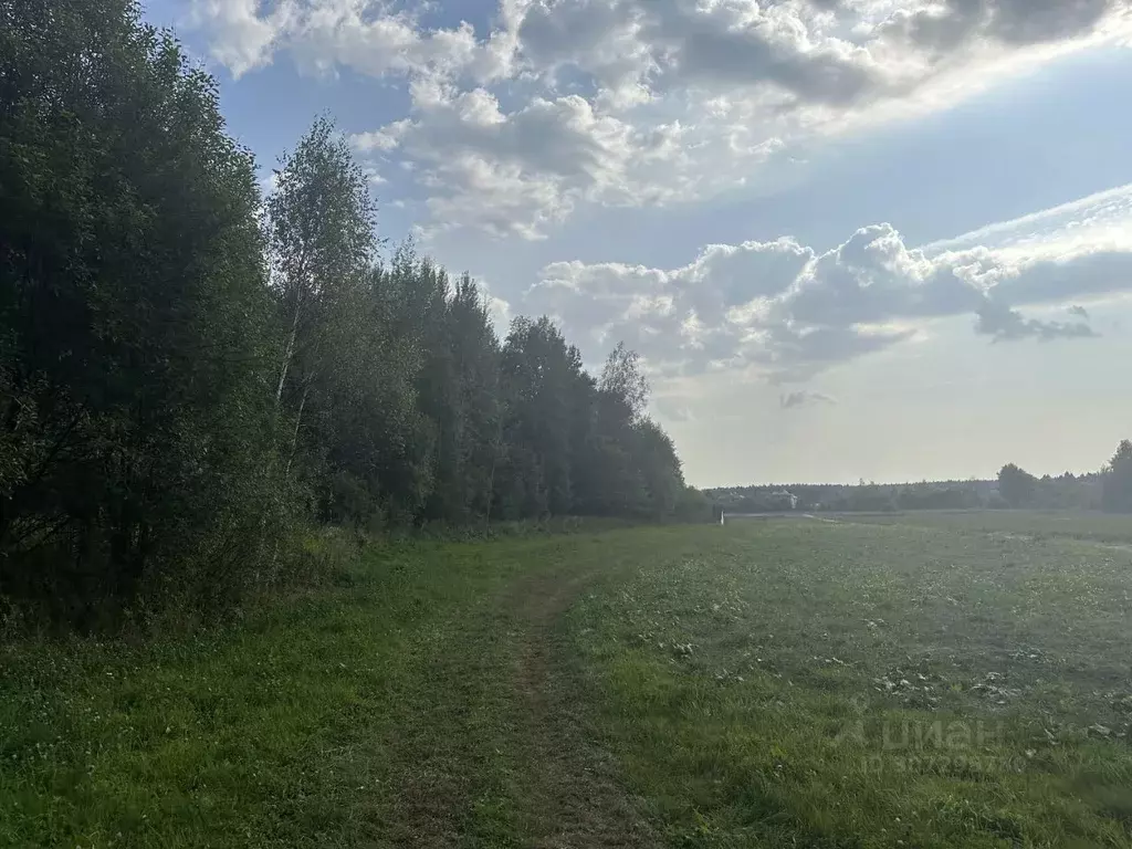
[[[404,546],[203,636],[7,645],[0,846],[1132,846],[1094,522]]]

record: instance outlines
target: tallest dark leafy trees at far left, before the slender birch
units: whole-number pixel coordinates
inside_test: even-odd
[[[0,20],[0,590],[216,592],[271,489],[252,158],[132,2]]]

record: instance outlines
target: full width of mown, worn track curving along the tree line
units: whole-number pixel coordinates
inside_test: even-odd
[[[591,577],[543,564],[484,598],[478,612],[447,620],[420,649],[431,697],[410,697],[379,744],[403,766],[375,846],[661,844],[588,731],[559,629]],[[501,812],[487,823],[484,804]]]

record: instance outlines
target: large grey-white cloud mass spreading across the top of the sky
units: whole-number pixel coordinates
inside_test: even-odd
[[[523,238],[580,203],[711,196],[814,135],[968,96],[1132,27],[1129,0],[498,0],[479,31],[426,25],[423,1],[190,9],[235,75],[286,55],[408,85],[409,114],[359,147],[413,175],[428,226]]]

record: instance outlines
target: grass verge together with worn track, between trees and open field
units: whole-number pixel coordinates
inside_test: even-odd
[[[213,633],[2,646],[0,846],[652,846],[559,632],[645,539],[375,551]]]

